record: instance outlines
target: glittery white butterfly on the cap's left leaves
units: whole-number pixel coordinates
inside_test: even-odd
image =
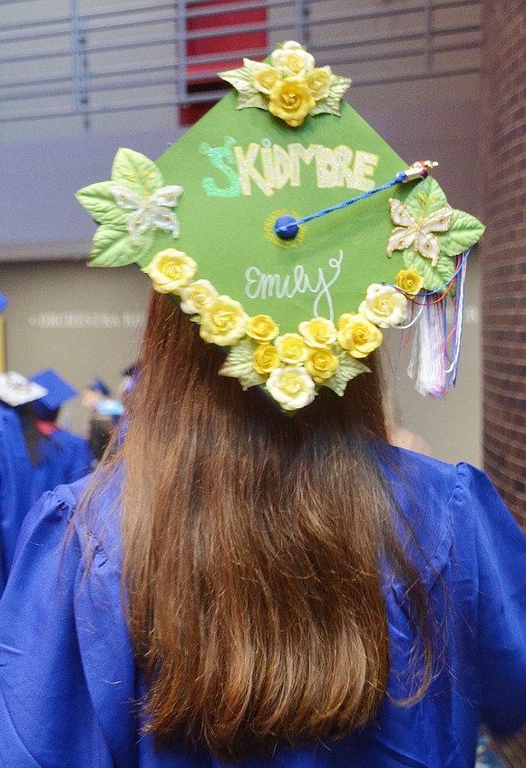
[[[115,186],[110,191],[120,208],[132,211],[126,217],[126,228],[134,246],[139,245],[139,238],[149,229],[162,229],[171,232],[173,238],[179,238],[179,219],[169,209],[177,205],[182,187],[161,187],[149,198],[141,198],[128,187]]]

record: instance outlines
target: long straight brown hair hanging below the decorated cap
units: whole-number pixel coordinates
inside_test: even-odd
[[[154,295],[112,466],[124,469],[123,581],[146,730],[236,761],[375,715],[390,667],[386,561],[424,637],[419,694],[431,660],[379,461],[377,371],[289,417],[219,376],[222,359]]]

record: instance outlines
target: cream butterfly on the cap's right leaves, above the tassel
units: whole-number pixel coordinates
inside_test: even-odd
[[[433,232],[447,232],[453,216],[453,208],[444,206],[433,211],[425,219],[415,219],[404,203],[391,198],[391,219],[400,227],[393,229],[387,244],[387,256],[391,258],[394,250],[405,250],[414,245],[421,256],[431,259],[432,267],[436,267],[440,254],[440,246]]]

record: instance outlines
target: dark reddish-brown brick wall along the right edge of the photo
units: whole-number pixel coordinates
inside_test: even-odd
[[[482,0],[485,469],[526,528],[526,3]]]

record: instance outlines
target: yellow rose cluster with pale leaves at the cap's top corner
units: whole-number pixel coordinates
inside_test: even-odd
[[[329,66],[317,67],[314,56],[295,40],[288,40],[270,54],[270,63],[244,59],[238,70],[219,73],[240,94],[239,109],[268,109],[296,128],[308,114],[339,114],[339,102],[351,84]]]

